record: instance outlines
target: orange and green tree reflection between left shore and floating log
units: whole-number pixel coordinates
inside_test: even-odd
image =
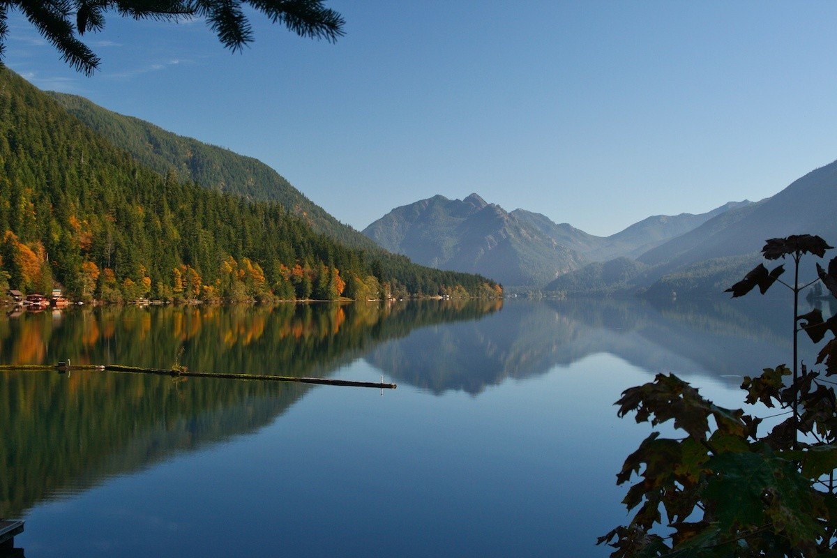
[[[130,364],[287,376],[328,374],[382,340],[473,320],[501,301],[231,308],[105,307],[0,319],[0,362]]]

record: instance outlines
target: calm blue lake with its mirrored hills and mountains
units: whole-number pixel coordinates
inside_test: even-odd
[[[790,361],[790,315],[753,296],[3,316],[2,364],[398,389],[0,372],[0,517],[26,520],[30,558],[605,556],[629,520],[615,474],[650,433],[619,394],[673,371],[740,407],[742,376]]]

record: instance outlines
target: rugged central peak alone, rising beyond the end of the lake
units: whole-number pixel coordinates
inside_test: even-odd
[[[483,274],[507,286],[540,286],[586,260],[537,227],[476,194],[397,207],[363,231],[419,264]]]

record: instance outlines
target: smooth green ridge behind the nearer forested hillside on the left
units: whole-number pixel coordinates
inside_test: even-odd
[[[278,172],[253,157],[212,146],[132,116],[103,109],[77,95],[49,91],[54,100],[113,145],[131,153],[142,165],[161,175],[174,171],[178,181],[196,182],[249,200],[280,202],[285,209],[341,243],[372,248],[374,243],[331,217],[290,185]]]

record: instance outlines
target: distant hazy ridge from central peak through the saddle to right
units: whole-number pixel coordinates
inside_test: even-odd
[[[363,233],[383,248],[420,264],[483,274],[506,286],[540,288],[590,262],[634,259],[717,215],[750,203],[729,202],[699,215],[656,215],[619,233],[598,237],[568,223],[553,223],[541,213],[524,209],[506,212],[475,193],[463,200],[437,195],[396,207]],[[628,267],[632,277],[644,268],[642,264]]]

